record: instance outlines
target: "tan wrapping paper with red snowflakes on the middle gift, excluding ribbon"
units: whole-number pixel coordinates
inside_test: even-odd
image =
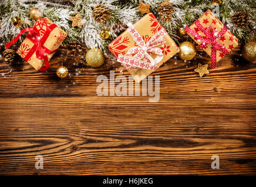
[[[153,13],[148,13],[147,15],[145,15],[138,22],[134,23],[133,27],[136,28],[137,32],[140,34],[140,36],[142,36],[142,39],[146,44],[148,41],[150,41],[151,37],[161,32],[161,29],[163,29]],[[166,31],[164,30],[164,32]],[[157,46],[161,49],[161,53],[163,54],[163,58],[161,59],[161,61],[156,64],[157,68],[160,67],[160,65],[162,65],[164,62],[169,60],[171,57],[173,57],[179,51],[177,44],[174,43],[173,39],[171,39],[169,34],[165,34],[163,39],[166,42]],[[129,49],[133,47],[138,47],[138,44],[136,43],[136,41],[134,41],[133,37],[127,30],[120,34],[119,37],[114,39],[109,44],[109,50],[116,58],[119,57],[119,54],[123,56],[126,55],[127,51],[129,51]],[[153,59],[157,58],[156,54],[149,54]],[[142,81],[142,79],[146,78],[149,74],[151,74],[151,72],[153,72],[152,70],[148,70],[146,68],[132,68],[130,70],[127,69],[127,71],[129,71],[129,73],[132,75],[133,79],[136,82]]]

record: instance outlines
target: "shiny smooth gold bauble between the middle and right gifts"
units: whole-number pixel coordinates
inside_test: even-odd
[[[197,54],[196,47],[189,41],[184,41],[180,44],[180,52],[178,56],[181,60],[192,60]]]

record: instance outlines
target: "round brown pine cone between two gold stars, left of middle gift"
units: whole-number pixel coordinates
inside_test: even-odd
[[[106,23],[110,17],[110,11],[105,5],[96,5],[93,9],[92,15],[96,22]]]

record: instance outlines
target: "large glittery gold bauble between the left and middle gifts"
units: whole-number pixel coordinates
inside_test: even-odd
[[[85,56],[86,63],[93,68],[100,67],[105,61],[104,53],[102,50],[93,48],[90,49]]]

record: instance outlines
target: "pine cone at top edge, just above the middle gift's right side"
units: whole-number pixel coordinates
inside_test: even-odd
[[[157,11],[159,12],[159,16],[161,20],[164,22],[169,22],[171,18],[173,17],[173,5],[168,2],[168,0],[162,2],[158,8]]]

